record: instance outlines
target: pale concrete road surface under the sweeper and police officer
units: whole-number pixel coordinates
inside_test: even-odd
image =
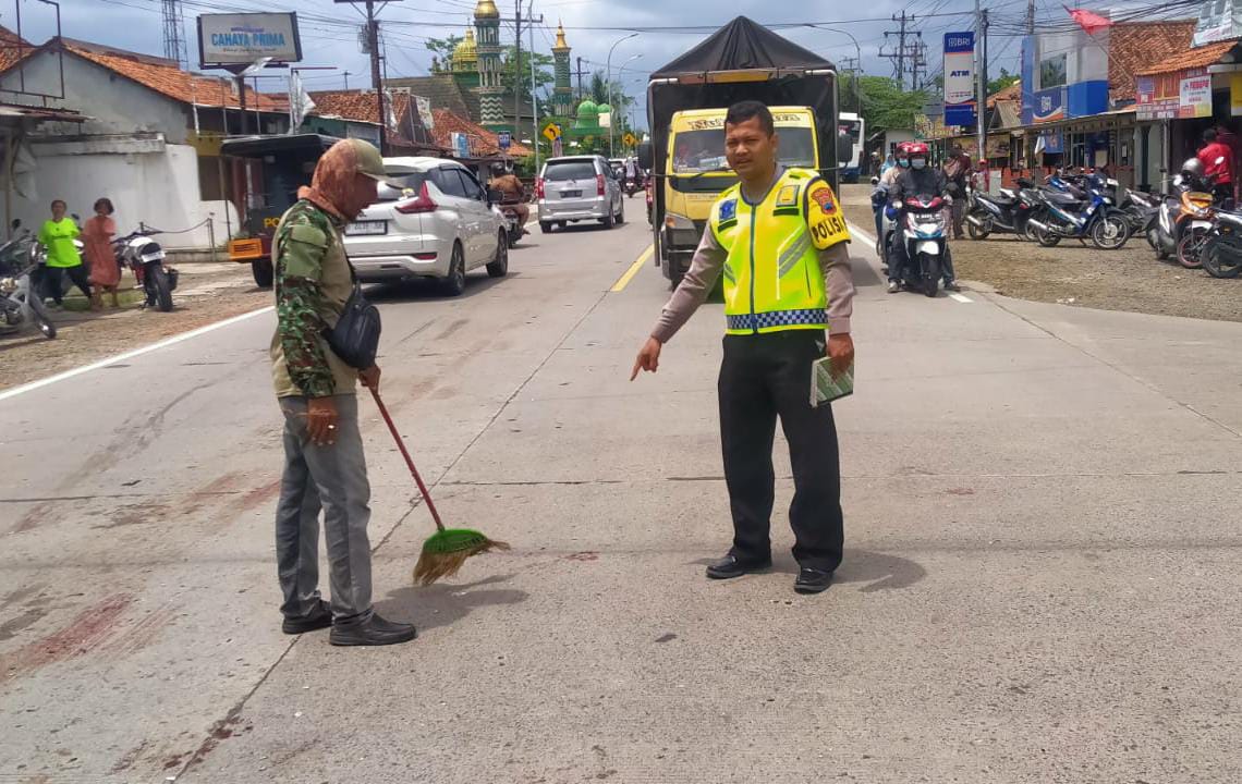
[[[628,383],[638,212],[378,293],[442,512],[514,545],[411,587],[431,520],[364,401],[410,645],[279,633],[271,314],[0,397],[0,782],[1238,780],[1242,325],[889,296],[856,242],[838,582],[792,592],[779,512],[774,572],[712,583],[723,319]]]

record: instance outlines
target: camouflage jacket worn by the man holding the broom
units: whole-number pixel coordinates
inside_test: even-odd
[[[358,371],[333,354],[323,339],[323,330],[337,324],[353,289],[343,226],[302,200],[276,227],[276,335],[271,356],[277,397],[328,397],[356,390]]]

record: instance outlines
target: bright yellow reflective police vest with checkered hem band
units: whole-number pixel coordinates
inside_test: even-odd
[[[787,169],[763,202],[741,184],[712,206],[708,226],[725,249],[724,315],[730,335],[822,330],[828,325],[818,251],[850,239],[836,195],[806,169]]]

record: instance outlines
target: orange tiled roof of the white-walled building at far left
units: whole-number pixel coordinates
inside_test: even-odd
[[[240,108],[236,87],[232,79],[202,76],[181,71],[180,66],[170,60],[138,55],[124,50],[73,41],[61,40],[65,51],[102,66],[108,71],[118,73],[143,87],[155,91],[161,96],[180,100],[181,103],[195,103],[200,107],[227,107]],[[52,41],[51,43],[55,43]],[[257,102],[257,107],[256,107]],[[246,108],[257,108],[261,112],[288,112],[288,99],[284,96],[256,93],[246,88]]]

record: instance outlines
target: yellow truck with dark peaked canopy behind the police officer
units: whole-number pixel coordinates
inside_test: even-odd
[[[836,69],[739,16],[652,73],[647,87],[651,139],[638,159],[653,177],[653,261],[673,285],[689,269],[712,203],[738,181],[724,158],[724,115],[748,99],[771,109],[781,163],[837,185]]]

